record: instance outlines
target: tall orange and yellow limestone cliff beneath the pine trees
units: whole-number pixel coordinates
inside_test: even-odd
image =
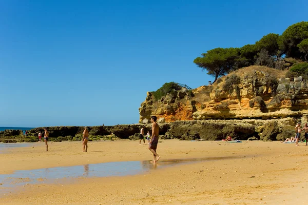
[[[160,122],[192,119],[300,118],[308,113],[308,82],[284,78],[285,71],[262,66],[239,69],[211,86],[156,99],[151,92],[139,108],[140,122],[151,115]]]

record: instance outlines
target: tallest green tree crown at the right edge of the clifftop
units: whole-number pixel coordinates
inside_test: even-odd
[[[288,57],[301,58],[303,53],[299,51],[297,45],[305,38],[308,38],[308,22],[293,24],[279,38],[279,48]]]

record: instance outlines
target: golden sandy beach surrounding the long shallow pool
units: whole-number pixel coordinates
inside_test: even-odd
[[[109,161],[151,160],[139,141],[49,142],[0,154],[0,174]],[[221,157],[122,177],[17,187],[0,204],[308,204],[308,146],[280,142],[162,140],[161,160]],[[162,162],[161,162],[162,163]],[[22,179],[26,180],[26,179]],[[5,191],[6,188],[1,188]]]

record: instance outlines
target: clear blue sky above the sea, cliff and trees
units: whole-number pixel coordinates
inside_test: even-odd
[[[201,53],[282,34],[307,5],[0,0],[0,127],[137,123],[147,91],[213,80]]]

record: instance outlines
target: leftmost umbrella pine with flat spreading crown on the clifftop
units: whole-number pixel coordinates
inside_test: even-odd
[[[213,83],[219,76],[238,68],[236,64],[240,57],[238,48],[215,48],[201,55],[203,57],[197,57],[194,63],[206,70],[208,75],[215,77]]]

